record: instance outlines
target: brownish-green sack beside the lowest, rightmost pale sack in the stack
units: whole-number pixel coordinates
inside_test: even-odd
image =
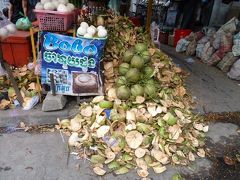
[[[217,67],[221,69],[223,72],[228,72],[230,67],[235,63],[237,57],[233,56],[232,52],[228,52],[224,58],[217,64]]]

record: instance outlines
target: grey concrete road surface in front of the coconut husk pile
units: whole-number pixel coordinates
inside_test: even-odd
[[[221,150],[237,141],[238,126],[230,123],[215,123],[210,125],[207,139],[211,144],[221,144]],[[226,141],[222,141],[225,139]],[[67,137],[63,142],[60,133],[28,134],[16,132],[0,135],[0,179],[1,180],[94,180],[94,179],[140,179],[135,170],[126,175],[115,176],[109,173],[103,177],[96,176],[89,162],[77,160],[71,155],[67,165]],[[210,149],[214,147],[210,146]],[[239,145],[240,148],[240,145]],[[176,173],[183,174],[187,179],[209,179],[213,162],[208,158],[197,159],[188,167],[171,166],[162,174],[150,171],[152,180],[171,180]],[[240,175],[240,174],[239,174]],[[211,178],[210,178],[211,179]]]

